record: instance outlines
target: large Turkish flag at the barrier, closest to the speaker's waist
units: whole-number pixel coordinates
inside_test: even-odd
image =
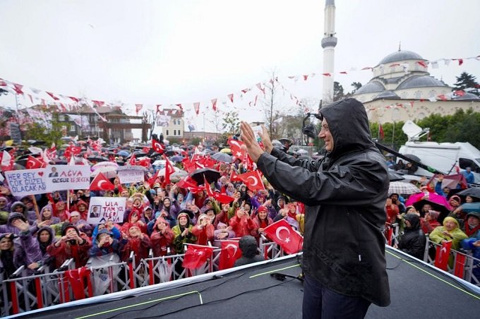
[[[285,253],[298,253],[304,244],[304,238],[294,231],[285,219],[280,219],[278,222],[268,225],[265,228],[265,234],[272,241],[278,243]]]

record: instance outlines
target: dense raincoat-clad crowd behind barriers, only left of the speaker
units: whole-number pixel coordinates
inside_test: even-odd
[[[182,168],[181,162],[176,165]],[[303,204],[278,193],[266,182],[265,189],[251,191],[241,181],[230,181],[232,171],[244,171],[240,160],[215,164],[220,178],[210,187],[215,193],[231,196],[229,203],[208,196],[205,189],[189,191],[179,186],[178,180],[165,183],[160,178],[150,185],[148,181],[162,167],[148,168],[143,182],[121,184],[117,176],[112,179],[113,191],[82,189],[70,191],[68,196],[67,191],[55,191],[35,198],[16,198],[3,183],[0,270],[6,277],[21,265],[29,274],[42,265],[49,265],[53,271],[70,258],[76,267],[82,267],[89,258],[111,253],[126,261],[132,251],[138,262],[148,257],[150,249],[154,257],[159,257],[184,253],[184,243],[211,243],[220,248],[222,239],[243,236],[252,236],[258,244],[265,227],[280,219],[302,231]],[[123,222],[104,219],[89,224],[90,200],[95,196],[126,198]]]

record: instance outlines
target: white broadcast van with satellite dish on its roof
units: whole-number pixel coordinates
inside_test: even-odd
[[[428,133],[428,128],[422,130],[412,121],[407,121],[402,127],[402,130],[409,136],[409,141],[399,150],[402,155],[419,157],[422,164],[426,164],[445,174],[455,174],[456,167],[460,167],[460,171],[471,167],[475,176],[475,183],[480,183],[480,150],[472,144],[462,142],[419,142],[418,138],[421,133]],[[419,168],[415,174],[424,176],[432,175],[431,172],[421,168]]]

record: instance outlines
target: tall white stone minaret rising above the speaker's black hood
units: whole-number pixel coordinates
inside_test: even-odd
[[[330,76],[323,76],[323,105],[333,102],[333,68],[335,66],[335,0],[325,0],[325,28],[323,32],[323,73]]]

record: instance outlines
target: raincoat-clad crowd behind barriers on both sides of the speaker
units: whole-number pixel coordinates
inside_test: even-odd
[[[205,155],[208,157],[208,155]],[[177,163],[183,168],[181,162]],[[221,203],[205,190],[189,190],[177,181],[164,183],[162,179],[148,183],[161,167],[150,165],[145,181],[121,184],[112,179],[113,191],[90,189],[55,191],[51,194],[28,195],[16,198],[4,182],[0,186],[0,270],[8,277],[18,267],[25,266],[32,274],[42,265],[58,269],[65,260],[73,258],[76,267],[85,266],[89,258],[114,253],[120,260],[128,260],[133,251],[139,261],[147,258],[152,249],[155,257],[184,253],[184,243],[220,247],[223,239],[241,238],[252,247],[265,227],[285,219],[292,228],[303,234],[304,204],[276,191],[265,180],[265,189],[251,191],[241,181],[232,181],[232,173],[245,171],[239,159],[233,163],[217,162],[220,178],[210,186],[216,193],[231,196],[229,203]],[[426,234],[431,241],[452,241],[453,249],[474,251],[480,258],[480,212],[465,213],[462,202],[472,203],[479,198],[452,195],[442,188],[442,177],[435,185],[424,179],[419,182],[421,199],[431,194],[448,198],[449,212],[434,210],[425,203],[419,209],[406,206],[405,194],[391,193],[385,201],[386,226],[400,224],[400,236],[395,246],[416,258],[424,259]],[[123,222],[106,219],[89,224],[90,200],[95,196],[126,198]],[[68,198],[68,203],[67,203]],[[37,207],[35,207],[37,206]],[[39,214],[35,212],[38,209]],[[385,234],[387,232],[385,231]],[[248,260],[261,256],[248,253]],[[241,265],[245,260],[240,260]],[[479,270],[474,275],[480,278]]]

